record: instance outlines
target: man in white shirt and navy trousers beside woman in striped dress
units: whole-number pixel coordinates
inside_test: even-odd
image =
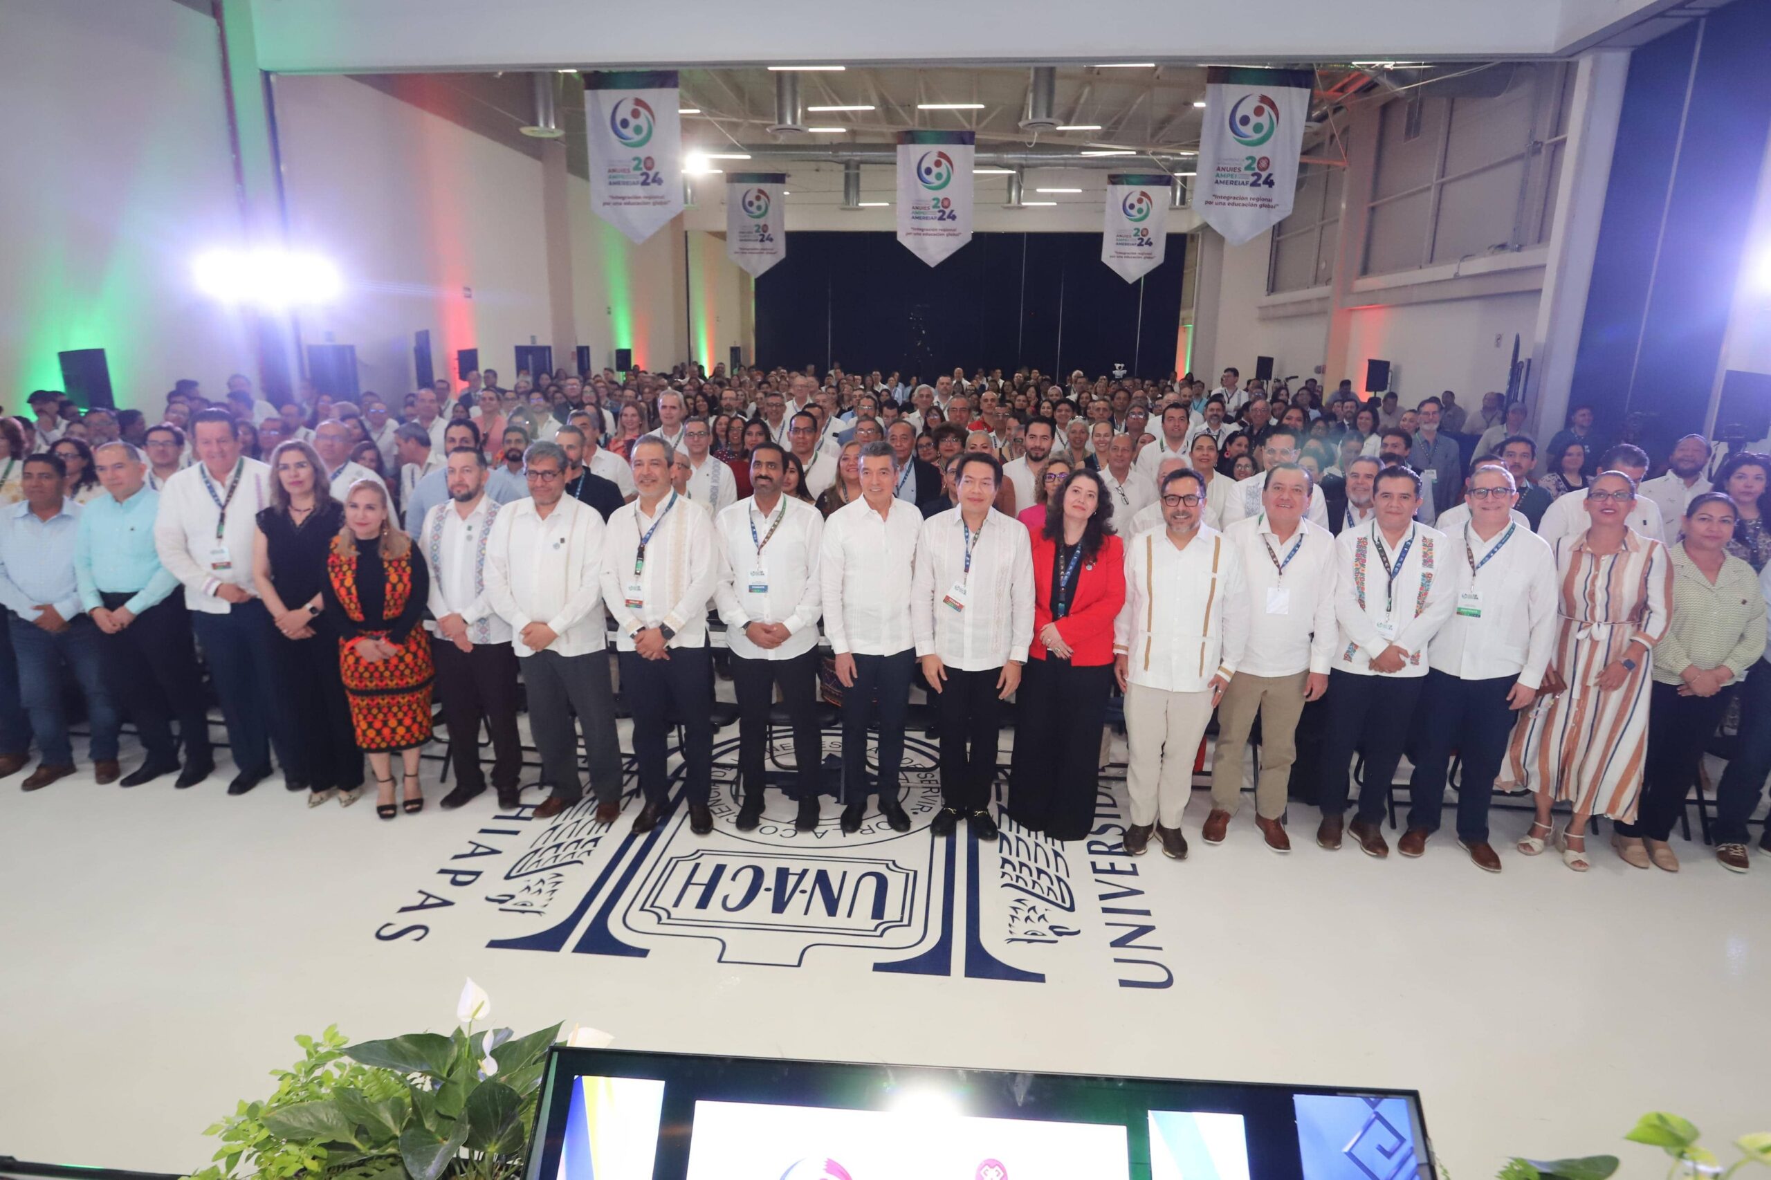
[[[1488,842],[1488,804],[1520,710],[1555,647],[1558,586],[1555,551],[1512,519],[1518,491],[1505,466],[1475,470],[1461,508],[1468,519],[1445,532],[1456,609],[1427,648],[1415,772],[1408,780],[1408,831],[1396,850],[1420,856],[1438,831],[1452,751],[1463,757],[1458,781],[1458,847],[1486,872],[1500,872]]]

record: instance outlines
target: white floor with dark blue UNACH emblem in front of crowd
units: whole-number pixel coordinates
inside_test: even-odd
[[[932,847],[921,769],[905,836],[845,838],[827,804],[811,840],[744,838],[721,790],[712,838],[678,810],[650,845],[627,840],[632,803],[613,831],[496,820],[491,796],[443,813],[436,772],[430,808],[395,822],[372,796],[310,811],[280,781],[228,799],[221,774],[0,783],[0,1153],[191,1169],[296,1033],[445,1029],[462,976],[499,1022],[625,1047],[1419,1088],[1463,1180],[1514,1152],[1615,1150],[1649,1175],[1658,1155],[1619,1141],[1649,1109],[1716,1145],[1771,1122],[1771,858],[1736,877],[1677,845],[1667,875],[1601,850],[1580,877],[1511,852],[1507,813],[1491,877],[1449,835],[1420,861],[1321,852],[1302,808],[1280,858],[1249,811],[1204,847],[1199,792],[1185,863],[1132,863],[1109,829],[986,847],[972,873],[963,840],[951,872]],[[558,950],[489,946],[524,935]]]

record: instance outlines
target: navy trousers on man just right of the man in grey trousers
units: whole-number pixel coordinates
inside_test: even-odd
[[[682,723],[684,794],[705,804],[714,790],[714,652],[705,647],[673,647],[669,659],[646,659],[622,652],[622,696],[634,718],[634,762],[646,803],[664,806],[669,797],[666,739],[671,723]]]

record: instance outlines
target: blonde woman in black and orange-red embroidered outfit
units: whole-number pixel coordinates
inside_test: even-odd
[[[338,634],[338,668],[351,698],[356,744],[368,751],[379,799],[395,817],[391,753],[400,751],[407,813],[425,806],[418,748],[430,741],[430,643],[418,620],[430,572],[411,539],[388,521],[388,493],[358,480],[344,503],[344,528],[326,558],[326,615]]]

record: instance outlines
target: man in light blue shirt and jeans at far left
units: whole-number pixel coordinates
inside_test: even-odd
[[[115,783],[120,718],[99,663],[99,629],[80,604],[74,540],[80,505],[62,498],[66,464],[51,454],[25,461],[25,501],[0,514],[0,604],[18,654],[19,696],[37,734],[43,760],[23,781],[39,790],[74,772],[74,751],[62,714],[64,666],[87,696],[92,721],[92,769]]]

